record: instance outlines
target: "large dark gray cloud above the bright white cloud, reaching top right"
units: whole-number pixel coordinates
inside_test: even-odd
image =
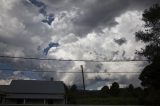
[[[141,10],[148,8],[155,0],[87,0],[82,4],[83,13],[79,14],[73,22],[76,32],[80,36],[104,27],[112,27],[118,24],[115,17],[118,17],[129,9]]]

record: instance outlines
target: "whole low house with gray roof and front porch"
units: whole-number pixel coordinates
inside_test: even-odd
[[[3,104],[65,104],[62,81],[12,80],[0,91]]]

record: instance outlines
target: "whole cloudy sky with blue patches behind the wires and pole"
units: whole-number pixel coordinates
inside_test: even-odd
[[[0,56],[73,60],[144,59],[135,54],[145,47],[135,32],[143,30],[142,13],[159,0],[0,0]],[[0,58],[0,84],[11,80],[64,81],[87,89],[118,82],[140,86],[147,62],[40,61]],[[7,69],[7,70],[4,70]],[[32,72],[32,71],[44,72]],[[22,72],[25,71],[25,72]],[[56,72],[45,72],[56,71]]]

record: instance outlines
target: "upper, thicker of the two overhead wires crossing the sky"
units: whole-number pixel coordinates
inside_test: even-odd
[[[86,59],[53,59],[53,58],[38,58],[38,57],[13,57],[13,56],[0,56],[0,58],[17,58],[23,60],[54,60],[54,61],[85,61],[85,62],[134,62],[134,61],[148,61],[147,59],[125,59],[125,60],[86,60]]]

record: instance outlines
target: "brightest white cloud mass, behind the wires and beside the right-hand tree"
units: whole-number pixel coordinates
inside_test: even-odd
[[[133,18],[134,17],[134,18]],[[108,60],[108,59],[136,59],[135,50],[139,50],[144,44],[136,42],[134,33],[142,28],[143,22],[141,19],[141,12],[138,11],[128,11],[121,16],[115,18],[118,24],[116,26],[108,29],[107,27],[103,30],[103,33],[92,32],[86,37],[77,38],[78,40],[73,40],[70,43],[65,42],[66,37],[62,37],[62,46],[59,47],[57,51],[50,51],[51,57],[56,57],[60,59],[89,59],[89,60]],[[127,30],[126,30],[127,28]],[[74,37],[74,35],[72,35]],[[117,45],[114,42],[114,38],[125,37],[127,43],[124,45]],[[76,38],[76,37],[75,37]],[[122,54],[124,53],[124,56]],[[115,52],[115,53],[114,53]],[[116,53],[117,52],[117,53]],[[74,63],[74,62],[73,62]],[[71,64],[73,64],[71,63]],[[90,64],[90,65],[89,65]],[[99,63],[85,63],[85,71],[94,71],[96,64]],[[122,62],[122,63],[102,63],[102,69],[99,72],[103,72],[107,69],[110,72],[135,72],[141,71],[143,67],[139,67],[143,62]],[[127,67],[130,68],[127,68]],[[79,65],[74,67],[79,68]],[[69,70],[75,70],[70,67]],[[71,77],[72,76],[72,77]],[[128,79],[126,83],[134,83],[139,85],[137,75],[120,73],[111,74],[109,78],[111,81],[116,80],[119,82],[124,82],[123,77]],[[100,77],[102,80],[108,79],[106,74],[87,74],[85,79],[87,84],[96,81],[96,77]],[[78,80],[77,80],[78,79]],[[73,74],[65,74],[63,76],[63,81],[71,83],[81,83],[81,76]],[[122,79],[122,80],[121,80]]]

